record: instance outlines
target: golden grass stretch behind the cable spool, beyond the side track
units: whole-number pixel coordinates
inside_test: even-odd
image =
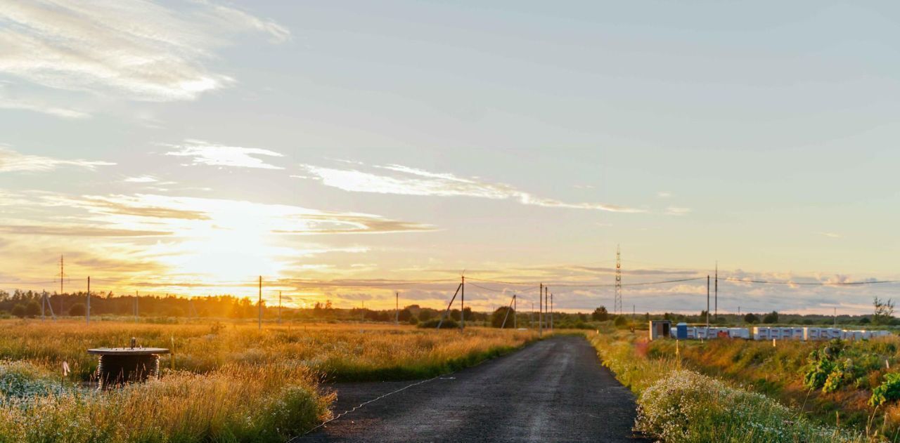
[[[380,324],[305,326],[256,323],[148,324],[74,321],[0,321],[0,359],[28,360],[58,370],[63,361],[86,380],[97,359],[85,350],[124,346],[173,348],[171,366],[205,373],[226,365],[261,366],[289,360],[329,380],[387,380],[434,376],[517,349],[536,339],[530,331],[491,328],[423,330]],[[174,343],[174,347],[172,344]]]

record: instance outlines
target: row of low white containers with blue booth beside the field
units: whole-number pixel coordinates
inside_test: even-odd
[[[674,330],[671,322],[650,322],[650,340],[660,338],[677,338],[680,340],[711,340],[716,338],[732,338],[745,340],[869,340],[876,337],[890,335],[889,331],[853,331],[839,328],[817,327],[769,327],[758,326],[752,328],[720,328],[707,326],[689,326],[688,323],[678,323]]]

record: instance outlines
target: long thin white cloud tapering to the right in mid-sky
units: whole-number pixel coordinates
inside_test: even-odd
[[[639,208],[605,203],[570,203],[557,199],[538,197],[505,183],[485,182],[478,178],[458,177],[452,173],[432,173],[400,164],[376,166],[392,173],[366,173],[356,169],[336,169],[302,165],[307,173],[321,180],[326,186],[353,192],[382,194],[475,197],[482,199],[513,199],[523,205],[545,208],[596,209],[609,212],[644,212]]]

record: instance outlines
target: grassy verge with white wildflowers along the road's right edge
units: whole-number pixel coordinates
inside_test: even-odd
[[[651,352],[655,343],[649,345],[643,334],[605,332],[589,337],[603,364],[637,395],[636,428],[655,439],[786,443],[868,439],[863,431],[810,420],[800,408],[691,370],[691,365],[676,359],[674,350]],[[869,437],[876,438],[875,434],[869,432]]]

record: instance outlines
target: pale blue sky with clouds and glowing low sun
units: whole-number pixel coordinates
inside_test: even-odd
[[[0,288],[868,313],[900,5],[0,4]],[[491,281],[486,281],[491,280]],[[747,280],[785,282],[784,285]],[[714,280],[715,283],[715,280]],[[822,283],[812,286],[797,283]]]

